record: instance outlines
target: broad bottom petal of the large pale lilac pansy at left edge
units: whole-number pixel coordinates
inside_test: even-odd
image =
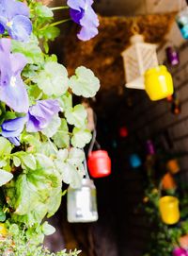
[[[17,112],[27,112],[29,108],[28,94],[20,77],[11,77],[7,85],[0,86],[0,100]]]

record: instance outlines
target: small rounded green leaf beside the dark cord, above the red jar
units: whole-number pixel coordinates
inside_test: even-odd
[[[91,133],[88,129],[73,128],[73,136],[71,137],[71,144],[75,147],[83,148],[91,140]]]

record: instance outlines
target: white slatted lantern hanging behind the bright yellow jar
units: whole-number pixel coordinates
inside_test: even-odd
[[[145,43],[139,34],[131,38],[132,45],[121,53],[126,75],[126,87],[145,89],[144,74],[149,68],[158,66],[156,44]]]

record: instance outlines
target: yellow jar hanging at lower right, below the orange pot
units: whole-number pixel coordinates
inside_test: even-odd
[[[165,224],[173,225],[180,220],[179,199],[175,196],[163,196],[159,200],[159,209]]]

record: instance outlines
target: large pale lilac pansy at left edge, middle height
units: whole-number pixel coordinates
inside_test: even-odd
[[[0,40],[0,100],[17,112],[28,111],[28,95],[21,72],[27,63],[24,55],[10,53],[10,40]]]

